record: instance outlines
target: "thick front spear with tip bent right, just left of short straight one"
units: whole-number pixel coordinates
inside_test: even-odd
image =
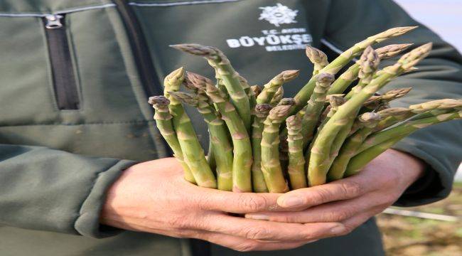
[[[289,114],[290,105],[274,107],[264,120],[262,133],[262,171],[269,192],[284,193],[289,191],[281,163],[279,161],[279,127]]]

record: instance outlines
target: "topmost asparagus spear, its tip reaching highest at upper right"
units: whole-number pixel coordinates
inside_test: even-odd
[[[375,43],[380,43],[389,38],[401,36],[404,33],[412,31],[414,28],[417,28],[417,27],[408,26],[408,27],[390,28],[389,30],[384,31],[382,33],[378,33],[375,36],[370,36],[364,41],[361,41],[360,43],[356,43],[355,46],[349,48],[348,50],[345,50],[342,54],[338,56],[338,58],[335,58],[333,62],[329,63],[328,65],[326,65],[325,68],[320,70],[320,73],[330,73],[332,75],[335,75],[345,65],[347,65],[350,62],[350,60],[353,60],[353,58],[356,55],[358,55],[363,50],[365,50],[367,46],[372,46]],[[306,104],[309,97],[311,97],[311,94],[313,93],[315,86],[316,86],[316,76],[313,76],[313,78],[311,78],[308,81],[308,83],[294,97],[297,102],[297,105],[294,108],[294,111],[292,111],[293,113],[301,110],[301,108]]]

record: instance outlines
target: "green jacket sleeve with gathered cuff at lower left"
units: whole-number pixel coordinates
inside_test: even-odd
[[[0,224],[102,238],[107,188],[132,161],[0,144]]]

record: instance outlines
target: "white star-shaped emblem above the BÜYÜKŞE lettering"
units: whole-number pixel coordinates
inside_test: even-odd
[[[259,20],[265,20],[272,23],[274,26],[279,27],[281,24],[296,23],[295,17],[299,11],[289,9],[287,6],[282,4],[276,4],[276,6],[265,6],[260,7],[262,14],[260,14]]]

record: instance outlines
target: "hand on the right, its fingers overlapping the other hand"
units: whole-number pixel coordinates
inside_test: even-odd
[[[246,218],[286,223],[341,222],[350,233],[381,213],[424,173],[423,161],[389,149],[359,174],[280,196],[287,212],[248,213]],[[345,235],[343,234],[343,235]]]

